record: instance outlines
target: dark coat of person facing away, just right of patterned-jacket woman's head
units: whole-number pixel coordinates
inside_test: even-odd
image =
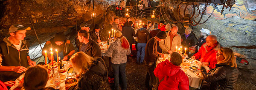
[[[134,43],[134,36],[135,36],[134,28],[132,28],[131,26],[124,27],[122,29],[122,35],[125,36],[125,38],[127,38],[129,44]]]

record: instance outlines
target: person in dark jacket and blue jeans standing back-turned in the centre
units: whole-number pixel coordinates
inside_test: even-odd
[[[145,28],[140,28],[137,31],[136,36],[138,37],[137,64],[141,64],[144,60],[145,47],[148,40],[150,39],[150,34]]]

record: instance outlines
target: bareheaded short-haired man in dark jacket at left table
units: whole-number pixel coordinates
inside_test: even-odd
[[[77,36],[80,41],[79,50],[81,52],[93,58],[101,57],[99,44],[89,38],[89,33],[86,30],[79,30]]]

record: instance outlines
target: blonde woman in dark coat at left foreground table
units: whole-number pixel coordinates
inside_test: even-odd
[[[70,61],[73,68],[78,71],[78,90],[98,90],[103,87],[107,70],[104,64],[98,60],[94,60],[84,52],[77,52]],[[69,89],[70,85],[66,85],[66,90],[77,90],[77,88]]]

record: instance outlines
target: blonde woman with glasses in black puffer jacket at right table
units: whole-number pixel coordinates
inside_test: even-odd
[[[201,89],[233,90],[239,76],[233,50],[230,48],[221,48],[218,50],[216,58],[218,64],[216,64],[216,67],[211,69],[208,74],[207,71],[202,68],[204,82],[202,83]]]

